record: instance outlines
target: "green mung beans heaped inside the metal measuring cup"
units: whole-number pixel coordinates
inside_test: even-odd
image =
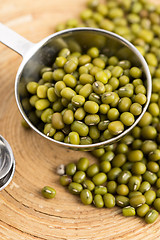
[[[29,102],[43,132],[57,141],[110,139],[130,127],[146,103],[142,70],[96,47],[83,54],[63,48],[53,67],[40,74],[38,82],[27,84]]]

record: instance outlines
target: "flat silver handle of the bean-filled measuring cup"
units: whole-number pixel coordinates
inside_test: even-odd
[[[0,23],[0,42],[21,56],[24,56],[34,46],[34,43],[28,41],[2,23]]]

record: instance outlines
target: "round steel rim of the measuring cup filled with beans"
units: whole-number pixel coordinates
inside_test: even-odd
[[[109,140],[106,140],[106,141],[103,141],[103,142],[98,142],[98,143],[93,143],[93,144],[88,144],[88,145],[74,145],[74,144],[68,144],[68,143],[64,143],[64,142],[59,142],[59,141],[54,140],[53,138],[50,138],[50,137],[46,136],[42,132],[40,132],[29,121],[28,117],[26,116],[26,114],[24,113],[24,111],[22,109],[22,106],[20,104],[20,99],[18,97],[18,84],[19,84],[19,80],[20,80],[20,77],[21,77],[22,70],[23,70],[25,64],[28,62],[28,60],[36,53],[36,51],[39,50],[51,38],[54,38],[54,37],[57,37],[57,36],[61,36],[61,35],[66,34],[66,33],[73,33],[74,34],[74,32],[81,32],[81,31],[98,32],[99,34],[102,33],[102,34],[109,35],[109,36],[112,36],[112,37],[118,39],[125,46],[127,46],[129,49],[131,49],[133,51],[133,53],[137,56],[137,58],[139,58],[142,66],[143,66],[143,69],[144,69],[144,71],[146,73],[146,76],[147,76],[147,102],[146,102],[145,106],[143,107],[143,111],[142,111],[141,115],[136,119],[134,124],[132,126],[130,126],[129,128],[127,128],[126,130],[124,130],[121,134],[119,134],[119,135],[117,135],[117,136],[115,136],[115,137],[113,137],[113,138],[111,138]],[[15,81],[16,102],[17,102],[18,108],[19,108],[23,118],[29,124],[29,126],[35,132],[37,132],[41,136],[45,137],[46,139],[48,139],[48,140],[50,140],[50,141],[52,141],[52,142],[54,142],[54,143],[56,143],[56,144],[58,144],[60,146],[63,146],[63,147],[66,147],[66,148],[70,148],[72,150],[88,150],[88,151],[91,151],[91,150],[96,149],[96,148],[100,148],[100,147],[103,147],[103,146],[107,146],[107,145],[113,144],[113,143],[117,142],[119,139],[121,139],[123,136],[128,134],[138,124],[138,122],[140,121],[140,119],[142,118],[144,113],[146,112],[147,107],[148,107],[149,102],[150,102],[151,90],[152,90],[152,81],[151,81],[151,75],[150,75],[150,71],[149,71],[148,65],[147,65],[144,57],[140,54],[140,52],[137,50],[137,48],[134,47],[133,44],[131,44],[128,40],[124,39],[123,37],[121,37],[121,36],[119,36],[119,35],[117,35],[115,33],[112,33],[112,32],[106,31],[106,30],[102,30],[102,29],[87,28],[87,27],[63,30],[63,31],[54,33],[54,34],[44,38],[39,43],[33,44],[33,47],[31,49],[29,49],[27,54],[24,55],[24,59],[23,59],[21,65],[20,65],[20,67],[18,69],[18,72],[17,72],[17,75],[16,75],[16,81]]]

